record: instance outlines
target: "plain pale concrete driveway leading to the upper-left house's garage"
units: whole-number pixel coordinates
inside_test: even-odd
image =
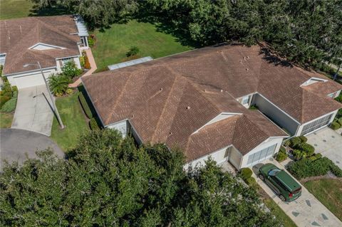
[[[45,85],[19,90],[11,128],[51,135],[53,111]]]

